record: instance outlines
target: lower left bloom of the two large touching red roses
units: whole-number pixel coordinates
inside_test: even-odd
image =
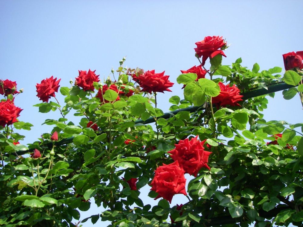
[[[185,171],[181,169],[178,161],[159,166],[155,170],[155,177],[151,181],[151,190],[158,193],[155,199],[163,197],[169,203],[175,194],[187,195],[185,191]]]

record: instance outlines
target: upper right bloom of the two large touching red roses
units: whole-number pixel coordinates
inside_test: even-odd
[[[205,141],[198,140],[198,136],[192,138],[190,141],[186,138],[175,144],[175,149],[168,153],[171,154],[171,158],[174,161],[178,161],[180,167],[185,170],[185,173],[197,176],[202,167],[210,170],[207,163],[211,152],[204,150],[203,144]]]

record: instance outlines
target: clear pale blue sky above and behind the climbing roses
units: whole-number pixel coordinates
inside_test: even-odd
[[[36,83],[53,75],[62,78],[61,86],[70,86],[78,70],[88,69],[106,78],[124,56],[128,67],[165,70],[170,75],[173,92],[158,98],[166,112],[169,97],[182,97],[176,78],[180,70],[198,65],[193,48],[205,36],[220,35],[231,44],[223,64],[242,57],[242,65],[249,68],[258,62],[261,70],[274,66],[284,70],[282,54],[303,50],[298,19],[302,7],[299,0],[1,1],[0,78],[17,81],[18,89],[24,88],[15,99],[16,106],[24,109],[19,120],[35,126],[21,132],[26,136],[24,144],[51,130],[41,126],[45,119],[59,117],[56,112],[42,114],[32,107],[40,103]],[[268,98],[265,119],[301,122],[299,97],[284,100],[281,93]],[[57,97],[63,102],[59,93]],[[174,197],[172,206],[186,202],[180,198]],[[81,219],[92,213],[101,212],[93,209]]]

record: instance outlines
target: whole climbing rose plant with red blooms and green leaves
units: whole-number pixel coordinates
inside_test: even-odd
[[[157,92],[169,94],[172,77],[126,68],[125,58],[106,81],[91,70],[72,87],[42,78],[34,106],[61,116],[47,114],[51,132],[27,146],[20,132],[33,125],[14,104],[23,90],[0,80],[0,225],[301,226],[303,123],[266,121],[262,110],[283,81],[285,99],[299,94],[303,105],[302,51],[282,55],[282,78],[281,67],[249,70],[241,58],[222,65],[220,36],[196,46],[200,64],[181,70],[184,97],[171,96],[166,115]],[[177,194],[188,202],[178,205]],[[103,209],[80,215],[92,203]]]

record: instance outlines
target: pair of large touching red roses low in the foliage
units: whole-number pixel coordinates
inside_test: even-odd
[[[187,195],[184,174],[197,176],[201,168],[210,169],[207,163],[211,152],[204,150],[204,143],[205,140],[200,141],[196,136],[191,140],[180,140],[175,144],[175,149],[168,152],[175,162],[163,164],[155,170],[155,177],[151,181],[151,190],[158,193],[155,199],[163,197],[171,203],[175,194]]]

